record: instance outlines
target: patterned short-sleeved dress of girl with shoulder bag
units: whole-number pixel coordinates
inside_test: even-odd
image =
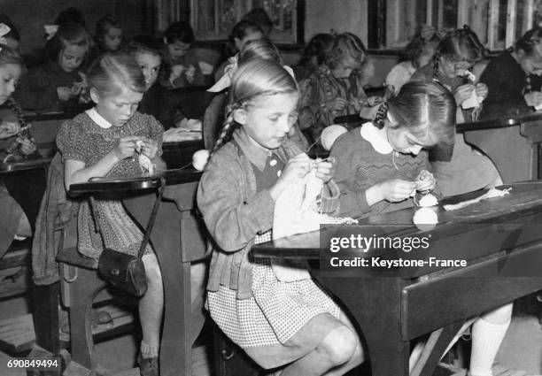
[[[138,135],[159,142],[164,130],[152,116],[139,112],[122,127],[99,127],[85,112],[62,125],[57,136],[58,150],[64,160],[74,159],[86,166],[95,165],[117,144],[121,137]],[[107,176],[135,176],[141,174],[137,159],[126,158],[113,166]],[[143,233],[128,216],[118,200],[96,199],[95,208],[99,231],[95,227],[88,202],[81,203],[78,216],[78,249],[81,254],[98,258],[104,245],[130,255],[136,255],[143,240]],[[145,254],[151,252],[147,246]]]

